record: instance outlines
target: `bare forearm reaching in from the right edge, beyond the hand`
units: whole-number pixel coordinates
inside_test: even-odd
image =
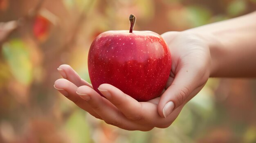
[[[256,12],[187,31],[209,43],[211,77],[256,77]]]

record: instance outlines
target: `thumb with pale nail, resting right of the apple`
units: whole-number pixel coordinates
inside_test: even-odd
[[[204,86],[200,82],[200,76],[196,72],[189,72],[186,68],[181,69],[171,86],[169,86],[160,98],[158,103],[158,113],[161,117],[166,118],[173,110],[182,106],[186,101],[195,96]],[[202,83],[202,84],[201,84]]]

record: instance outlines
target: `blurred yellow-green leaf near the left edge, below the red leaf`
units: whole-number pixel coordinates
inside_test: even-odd
[[[32,64],[26,47],[22,40],[15,39],[4,43],[2,51],[13,76],[20,83],[28,85],[32,80]]]

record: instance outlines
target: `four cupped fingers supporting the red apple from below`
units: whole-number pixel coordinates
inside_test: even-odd
[[[148,131],[154,127],[166,128],[181,110],[177,109],[173,115],[162,118],[157,112],[160,97],[148,102],[138,102],[118,88],[102,84],[99,91],[106,97],[104,98],[69,65],[61,65],[58,71],[64,79],[56,80],[54,87],[61,94],[92,116],[125,130]]]

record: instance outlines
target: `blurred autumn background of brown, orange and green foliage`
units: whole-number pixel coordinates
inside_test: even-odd
[[[234,18],[256,0],[0,0],[0,143],[256,143],[256,80],[209,79],[166,129],[107,125],[54,89],[61,64],[88,77],[108,30],[162,34]]]

